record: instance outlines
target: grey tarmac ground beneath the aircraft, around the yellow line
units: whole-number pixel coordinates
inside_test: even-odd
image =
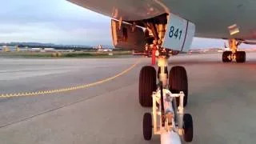
[[[256,140],[256,53],[246,63],[222,63],[222,54],[171,57],[189,78],[186,111],[194,118],[197,144],[253,144]],[[54,90],[109,78],[137,62],[131,58],[0,58],[0,93]],[[138,103],[138,74],[150,58],[118,78],[82,90],[0,98],[1,144],[160,143],[146,142]],[[170,68],[169,68],[170,70]],[[1,95],[0,94],[0,95]]]

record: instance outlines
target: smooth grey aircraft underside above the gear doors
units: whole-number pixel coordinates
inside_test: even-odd
[[[195,24],[196,37],[256,39],[254,0],[69,0],[111,18],[133,21],[173,13]],[[100,3],[100,5],[99,5]],[[230,36],[228,26],[240,33]]]

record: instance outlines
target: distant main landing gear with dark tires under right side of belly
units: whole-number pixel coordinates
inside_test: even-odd
[[[222,62],[246,62],[246,52],[238,51],[241,42],[236,39],[229,39],[230,50],[224,51],[222,54]]]

